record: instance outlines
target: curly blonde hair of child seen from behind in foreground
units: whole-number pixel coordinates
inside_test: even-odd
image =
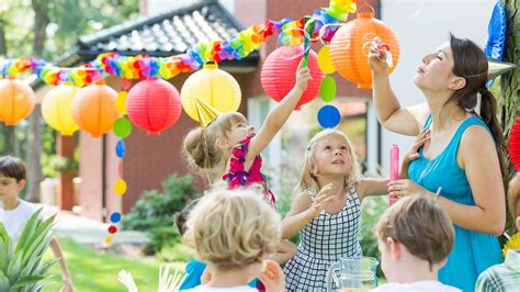
[[[276,250],[280,215],[255,190],[215,190],[190,213],[184,243],[217,270],[242,269]]]

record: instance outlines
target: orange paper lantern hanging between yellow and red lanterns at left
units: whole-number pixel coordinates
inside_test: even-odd
[[[74,120],[81,130],[100,137],[112,130],[117,119],[116,97],[117,92],[102,82],[80,89],[72,101]]]

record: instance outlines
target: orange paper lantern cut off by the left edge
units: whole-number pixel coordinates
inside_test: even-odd
[[[21,80],[0,80],[0,121],[15,125],[33,112],[35,99],[33,89]]]

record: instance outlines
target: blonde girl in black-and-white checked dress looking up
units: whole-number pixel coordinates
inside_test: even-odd
[[[336,130],[316,134],[307,146],[299,194],[282,222],[282,238],[299,232],[296,256],[284,272],[287,291],[325,291],[331,262],[361,256],[361,201],[384,194],[387,179],[365,179],[349,138]]]

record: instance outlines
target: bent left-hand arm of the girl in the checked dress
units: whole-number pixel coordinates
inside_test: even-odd
[[[332,183],[321,188],[316,200],[313,202],[308,192],[302,192],[294,198],[291,210],[282,221],[282,238],[291,238],[299,232],[307,223],[319,215],[326,203],[330,201],[334,194],[330,193]]]

